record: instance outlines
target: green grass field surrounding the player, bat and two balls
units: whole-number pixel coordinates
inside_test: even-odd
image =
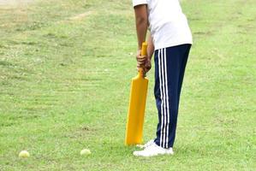
[[[138,158],[123,144],[136,74],[131,1],[0,0],[0,170],[256,170],[255,0],[182,8],[194,44],[176,154]],[[145,141],[158,119],[153,73]]]

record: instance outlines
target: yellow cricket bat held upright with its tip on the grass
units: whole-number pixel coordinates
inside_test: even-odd
[[[147,44],[142,44],[141,56],[146,56]],[[126,126],[125,144],[141,144],[143,133],[143,122],[146,107],[146,92],[148,79],[144,77],[143,69],[132,80],[130,101],[128,106],[128,120]]]

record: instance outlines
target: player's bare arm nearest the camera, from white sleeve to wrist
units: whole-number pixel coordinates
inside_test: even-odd
[[[139,5],[134,8],[136,31],[138,38],[138,49],[141,50],[141,44],[146,40],[147,31],[147,9],[146,5]]]

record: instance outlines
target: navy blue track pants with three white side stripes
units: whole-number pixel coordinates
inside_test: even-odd
[[[155,50],[154,94],[158,108],[158,128],[155,143],[173,147],[182,82],[191,44]]]

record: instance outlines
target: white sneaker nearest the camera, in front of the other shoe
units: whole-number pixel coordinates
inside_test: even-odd
[[[172,148],[164,149],[153,143],[147,146],[144,150],[134,151],[134,156],[158,156],[158,155],[173,155],[174,152]]]

